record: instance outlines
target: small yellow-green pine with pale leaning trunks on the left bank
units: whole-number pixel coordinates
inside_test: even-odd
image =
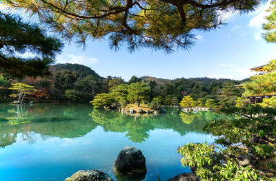
[[[11,97],[18,96],[17,103],[22,103],[26,94],[32,94],[36,91],[36,89],[34,89],[34,86],[26,85],[23,83],[12,83],[12,87],[10,87],[9,89],[17,91],[18,94],[10,94]]]

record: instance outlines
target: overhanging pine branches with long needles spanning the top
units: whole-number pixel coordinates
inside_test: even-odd
[[[65,39],[110,40],[119,49],[126,43],[130,52],[140,47],[172,52],[188,49],[195,30],[213,30],[221,24],[220,15],[229,10],[250,12],[262,0],[217,1],[43,1],[2,0],[11,8],[27,10],[61,32]]]

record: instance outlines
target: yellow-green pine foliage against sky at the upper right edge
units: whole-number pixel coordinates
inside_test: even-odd
[[[264,30],[266,30],[266,33],[263,34],[264,39],[266,39],[267,42],[273,42],[276,43],[276,1],[272,0],[270,2],[270,7],[267,12],[270,12],[270,15],[266,17],[266,20],[268,21],[263,25]]]

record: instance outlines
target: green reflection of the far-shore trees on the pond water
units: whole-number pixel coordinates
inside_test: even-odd
[[[85,136],[97,126],[104,131],[126,133],[132,142],[145,142],[154,129],[172,129],[181,136],[202,131],[208,120],[226,118],[214,112],[204,111],[185,114],[168,109],[158,116],[127,116],[117,111],[92,109],[90,105],[0,105],[0,147],[12,145],[17,139],[30,144],[40,136],[78,138]]]

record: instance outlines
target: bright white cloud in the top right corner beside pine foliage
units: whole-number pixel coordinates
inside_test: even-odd
[[[261,28],[262,24],[266,23],[266,19],[264,19],[264,17],[269,14],[269,12],[266,12],[266,10],[270,6],[270,1],[271,0],[267,1],[264,7],[259,8],[259,10],[257,10],[257,15],[253,17],[253,19],[250,19],[248,24],[250,28]]]

